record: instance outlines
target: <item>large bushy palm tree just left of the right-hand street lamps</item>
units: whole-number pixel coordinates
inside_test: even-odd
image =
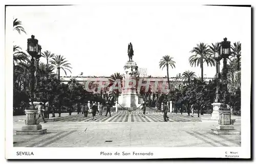
[[[207,66],[215,66],[215,60],[212,58],[211,49],[209,49],[209,46],[204,43],[197,44],[196,47],[193,48],[193,50],[190,51],[190,53],[195,53],[195,55],[192,55],[188,58],[189,63],[191,66],[197,65],[201,68],[201,81],[204,80],[204,74],[203,74],[203,63],[206,62]]]

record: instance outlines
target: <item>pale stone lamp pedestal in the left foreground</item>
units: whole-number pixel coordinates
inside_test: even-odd
[[[42,129],[39,124],[39,113],[37,109],[27,109],[26,112],[26,125],[22,130],[17,130],[16,135],[38,135],[47,132],[47,129]]]

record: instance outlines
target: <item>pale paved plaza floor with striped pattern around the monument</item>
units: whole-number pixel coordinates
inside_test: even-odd
[[[57,116],[58,114],[56,114]],[[112,113],[110,116],[97,115],[96,120],[84,118],[83,114],[62,113],[54,121],[41,123],[47,133],[43,135],[16,135],[25,118],[13,116],[14,147],[240,147],[241,135],[216,135],[210,129],[218,123],[210,121],[210,115],[197,118],[187,113],[172,113],[169,122],[163,122],[161,112]],[[235,129],[240,130],[240,116]],[[51,119],[51,118],[50,118]]]

